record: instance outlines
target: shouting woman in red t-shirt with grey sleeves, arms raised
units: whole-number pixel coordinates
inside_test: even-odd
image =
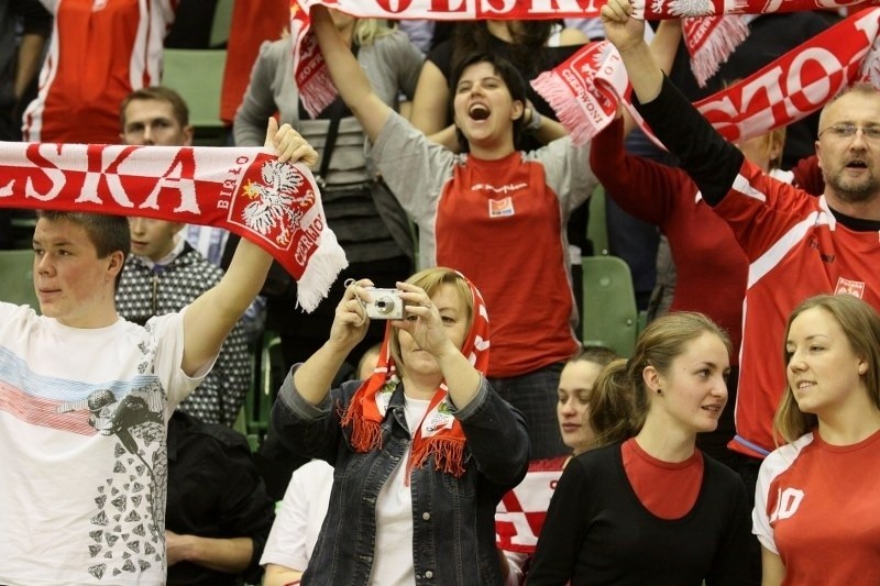
[[[388,108],[326,9],[310,10],[333,82],[373,143],[372,161],[419,226],[420,266],[450,266],[474,279],[492,308],[493,387],[526,416],[532,457],[568,453],[556,388],[579,341],[565,223],[596,186],[588,146],[563,137],[518,151],[524,131],[548,122],[527,109],[526,84],[509,62],[477,53],[452,77],[466,151],[457,155]]]

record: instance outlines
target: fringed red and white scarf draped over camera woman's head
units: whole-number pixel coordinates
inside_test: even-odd
[[[461,353],[480,371],[488,366],[488,313],[483,296],[474,284],[459,274],[471,288],[473,319]],[[342,416],[343,428],[351,429],[351,445],[355,452],[365,453],[382,449],[382,421],[388,409],[399,377],[391,355],[389,342],[396,332],[388,323],[382,342],[378,362],[373,376],[361,385]],[[407,463],[407,478],[413,468],[421,467],[433,455],[435,468],[453,476],[464,474],[464,432],[461,423],[449,410],[449,389],[440,383],[428,405],[428,411],[413,436],[413,446]]]

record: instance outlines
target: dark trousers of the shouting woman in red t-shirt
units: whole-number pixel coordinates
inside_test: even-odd
[[[495,392],[526,416],[531,442],[531,460],[571,454],[562,442],[557,417],[559,375],[564,363],[509,378],[490,378]]]

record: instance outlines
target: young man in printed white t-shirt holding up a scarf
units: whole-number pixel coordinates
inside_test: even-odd
[[[279,159],[317,155],[272,121]],[[145,327],[114,289],[125,218],[40,213],[42,316],[0,302],[0,584],[165,582],[166,421],[210,371],[272,257],[242,241],[212,289]]]

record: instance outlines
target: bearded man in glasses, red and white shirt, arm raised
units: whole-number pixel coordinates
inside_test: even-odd
[[[740,474],[754,495],[760,463],[776,446],[789,313],[823,292],[854,295],[880,309],[880,92],[856,85],[823,108],[816,154],[826,186],[815,198],[770,178],[715,132],[663,76],[642,40],[644,22],[629,10],[625,0],[613,0],[603,20],[634,102],[749,259],[737,435],[728,447],[743,456]]]

